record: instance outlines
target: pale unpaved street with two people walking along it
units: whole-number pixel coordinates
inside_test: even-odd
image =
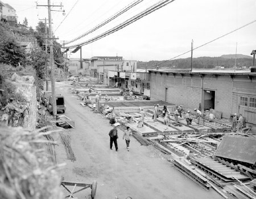
[[[61,170],[65,181],[92,183],[97,180],[96,198],[124,199],[127,196],[148,198],[222,198],[217,192],[202,189],[177,171],[160,151],[152,146],[141,146],[133,137],[130,151],[126,150],[123,132],[118,129],[119,151],[109,147],[109,120],[82,107],[77,96],[71,94],[68,82],[56,82],[57,91],[65,96],[65,115],[75,120],[76,129],[71,130],[72,149],[77,160],[71,162],[65,155],[63,145],[57,140],[57,163],[66,162]],[[78,198],[90,198],[86,189]]]

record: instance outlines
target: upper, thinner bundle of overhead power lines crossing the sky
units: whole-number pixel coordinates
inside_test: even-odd
[[[79,40],[82,37],[89,35],[89,33],[92,33],[94,31],[96,31],[98,28],[101,28],[102,26],[104,26],[105,24],[108,24],[109,22],[111,22],[112,20],[114,20],[115,18],[117,18],[118,16],[122,15],[123,13],[125,13],[126,11],[130,10],[132,7],[138,5],[139,3],[141,3],[143,0],[137,0],[134,1],[132,3],[130,3],[128,6],[123,7],[123,9],[119,10],[117,13],[115,13],[113,16],[111,16],[110,18],[106,19],[104,22],[101,22],[100,24],[98,24],[96,27],[90,29],[89,31],[85,32],[84,34],[76,37],[75,39],[72,39],[71,41],[68,41],[66,44],[70,44],[73,41]]]

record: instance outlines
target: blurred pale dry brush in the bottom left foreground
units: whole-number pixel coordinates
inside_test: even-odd
[[[48,162],[41,130],[0,126],[0,198],[63,198],[58,165]]]

